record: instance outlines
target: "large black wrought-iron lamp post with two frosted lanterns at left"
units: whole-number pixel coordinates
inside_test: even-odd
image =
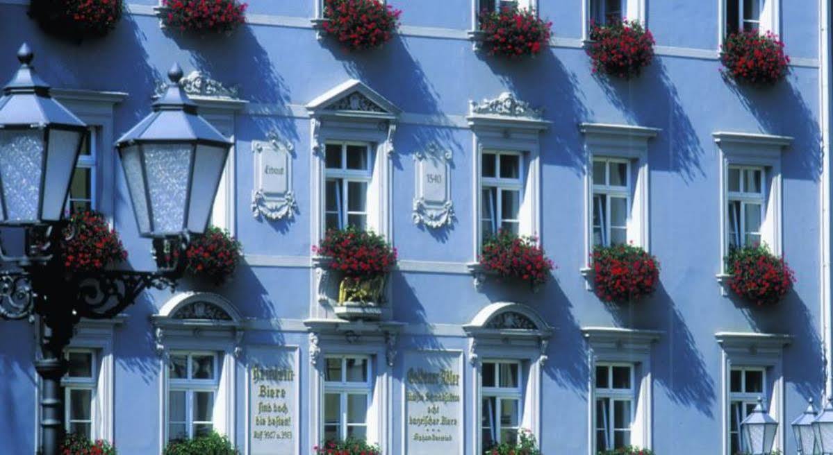
[[[21,66],[0,100],[0,226],[24,232],[22,254],[0,257],[0,317],[40,317],[43,455],[57,454],[64,435],[61,378],[64,349],[81,318],[108,319],[143,290],[176,284],[192,234],[206,230],[232,143],[197,115],[179,87],[174,65],[153,112],[117,142],[139,233],[152,239],[157,271],[69,272],[60,259],[72,172],[87,126],[49,94],[32,68],[26,44]]]

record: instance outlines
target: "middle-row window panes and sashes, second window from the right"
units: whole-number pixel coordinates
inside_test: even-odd
[[[627,243],[631,207],[631,163],[593,159],[593,245]]]

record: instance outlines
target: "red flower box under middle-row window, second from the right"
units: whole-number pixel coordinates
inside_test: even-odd
[[[606,302],[634,302],[660,282],[656,258],[638,246],[596,246],[591,260],[596,295]]]

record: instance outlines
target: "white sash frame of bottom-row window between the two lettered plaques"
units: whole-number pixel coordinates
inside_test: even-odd
[[[343,441],[347,438],[347,428],[348,427],[356,427],[356,426],[363,426],[365,428],[365,434],[370,434],[369,422],[373,408],[373,362],[370,356],[367,355],[350,355],[350,354],[327,354],[324,357],[324,369],[326,372],[327,369],[327,360],[329,359],[339,359],[342,363],[342,380],[341,381],[327,381],[326,376],[324,379],[324,395],[326,396],[328,393],[337,393],[339,396],[339,409],[341,410],[341,416],[338,422],[338,433],[339,433],[339,440]],[[367,360],[367,381],[365,382],[349,382],[347,381],[347,359],[355,359],[355,360]],[[365,417],[365,423],[361,425],[351,424],[347,422],[347,395],[365,395],[367,397],[367,412]],[[322,409],[321,413],[322,416],[325,415],[324,405],[326,400],[322,400]],[[320,419],[321,428],[319,431],[321,434],[325,434],[325,427],[327,426],[324,423],[324,419]]]

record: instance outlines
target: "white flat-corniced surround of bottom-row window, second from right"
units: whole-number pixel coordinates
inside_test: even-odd
[[[631,445],[653,448],[653,376],[651,350],[663,332],[656,330],[584,327],[587,343],[587,453],[596,455],[596,398],[612,393],[596,389],[596,365],[631,366]]]

